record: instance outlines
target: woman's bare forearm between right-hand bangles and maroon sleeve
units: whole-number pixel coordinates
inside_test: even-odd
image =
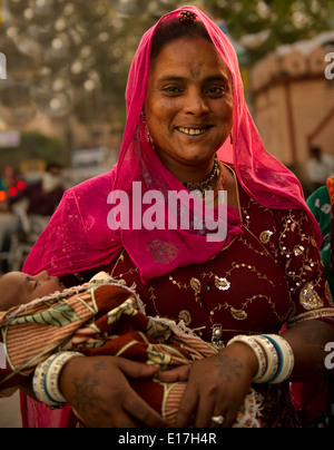
[[[334,342],[334,326],[320,320],[305,321],[283,334],[295,356],[291,381],[305,381],[326,371],[325,346]]]

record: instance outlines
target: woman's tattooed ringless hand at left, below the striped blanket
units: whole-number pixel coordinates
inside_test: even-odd
[[[89,428],[165,428],[163,418],[127,381],[151,378],[158,370],[121,358],[73,358],[60,373],[59,389]]]

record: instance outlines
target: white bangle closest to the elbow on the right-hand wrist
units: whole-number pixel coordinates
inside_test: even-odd
[[[284,381],[287,381],[291,378],[292,372],[294,370],[295,365],[294,352],[289,343],[278,334],[267,334],[265,335],[265,338],[267,338],[274,343],[281,359],[277,373],[272,380],[269,380],[269,383],[272,384],[283,383]]]

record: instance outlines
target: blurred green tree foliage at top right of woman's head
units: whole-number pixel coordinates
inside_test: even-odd
[[[236,40],[248,42],[250,62],[277,46],[310,39],[334,28],[333,0],[205,0]],[[253,41],[246,35],[261,36]],[[252,42],[254,45],[252,46]]]

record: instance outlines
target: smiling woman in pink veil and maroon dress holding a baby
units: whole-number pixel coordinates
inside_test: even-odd
[[[275,378],[278,352],[285,352],[285,381],[256,389],[263,398],[263,425],[295,427],[288,381],[323,371],[325,344],[334,340],[333,300],[315,241],[318,226],[297,179],[263,147],[232,45],[194,7],[165,16],[135,56],[127,108],[117,167],[66,194],[24,272],[86,276],[88,270],[106,268],[136,283],[148,314],[181,320],[222,349],[216,356],[158,375],[187,381],[178,427],[232,427],[252,381],[264,380],[259,374],[268,375],[273,368]],[[139,187],[143,199],[159,192],[166,204],[138,206]],[[205,196],[176,211],[181,216],[189,212],[189,229],[157,217],[161,209],[170,211],[170,192],[194,189],[199,197],[210,190],[216,214],[223,188],[227,216],[217,223],[225,224],[224,238],[208,238],[209,213],[199,226],[198,204]],[[129,216],[111,208],[110,192],[119,200],[120,193],[127,194]],[[110,211],[117,214],[110,216]],[[156,226],[140,226],[144,217]],[[291,329],[279,346],[278,332],[286,323]],[[277,349],[263,344],[265,356],[264,348],[249,340],[261,333],[277,336]],[[236,335],[242,338],[232,342]],[[127,383],[127,376],[154,374],[153,368],[121,358],[73,359],[62,369],[59,388],[88,425],[163,427]],[[50,417],[40,408],[29,403],[39,425],[41,417]],[[68,413],[67,408],[57,422],[58,412],[51,423],[68,425]]]

